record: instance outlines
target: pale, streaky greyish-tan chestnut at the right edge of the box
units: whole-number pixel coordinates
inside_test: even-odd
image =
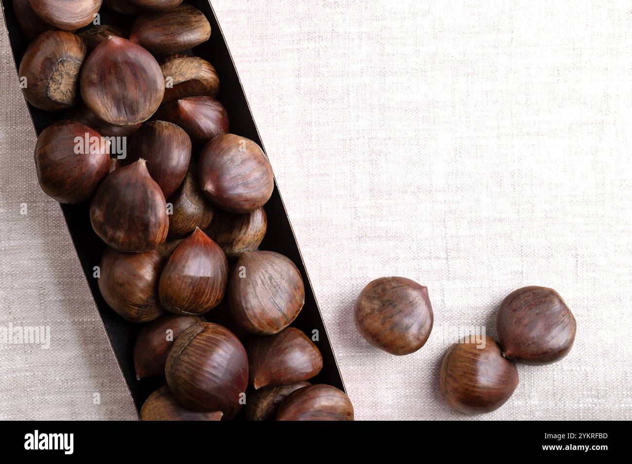
[[[303,278],[295,264],[279,253],[244,252],[231,273],[228,303],[235,322],[247,331],[276,334],[303,308]]]

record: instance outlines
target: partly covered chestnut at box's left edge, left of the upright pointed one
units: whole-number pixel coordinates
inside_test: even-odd
[[[164,262],[156,250],[125,253],[107,247],[99,266],[99,290],[107,305],[130,322],[153,321],[163,314],[158,280]]]

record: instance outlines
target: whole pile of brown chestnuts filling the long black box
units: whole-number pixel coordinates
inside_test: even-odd
[[[135,15],[131,28],[100,24],[102,3]],[[141,418],[353,420],[343,391],[310,382],[323,358],[291,327],[301,272],[259,250],[274,176],[257,143],[229,132],[216,68],[191,52],[210,37],[204,13],[181,0],[13,5],[32,40],[18,70],[25,99],[63,112],[37,140],[40,186],[89,205],[106,244],[99,290],[145,324],[138,381],[164,379]]]

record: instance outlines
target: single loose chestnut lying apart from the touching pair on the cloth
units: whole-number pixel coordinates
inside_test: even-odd
[[[434,317],[426,287],[403,277],[383,277],[362,290],[353,319],[368,343],[401,356],[425,345]]]

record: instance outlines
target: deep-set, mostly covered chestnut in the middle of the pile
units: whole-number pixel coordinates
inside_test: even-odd
[[[205,229],[213,219],[215,208],[202,193],[197,180],[197,164],[191,162],[185,181],[176,193],[167,199],[173,205],[169,217],[169,237],[189,235],[196,227]]]

